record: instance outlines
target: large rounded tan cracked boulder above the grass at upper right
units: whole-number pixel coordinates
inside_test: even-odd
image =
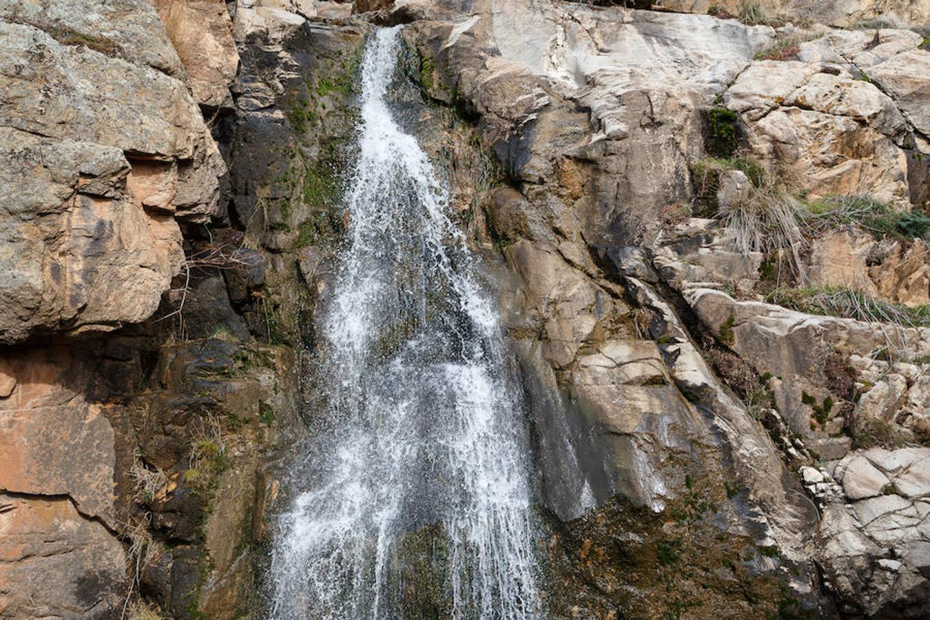
[[[904,117],[876,86],[803,62],[759,60],[724,102],[742,114],[751,155],[813,197],[869,193],[909,201],[908,165],[897,144]]]

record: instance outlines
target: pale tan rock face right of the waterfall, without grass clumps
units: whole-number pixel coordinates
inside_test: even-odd
[[[508,270],[518,276],[499,278],[501,305],[526,374],[538,377],[527,389],[544,494],[578,527],[560,534],[560,549],[607,544],[591,528],[622,521],[623,509],[606,508],[608,498],[675,510],[677,498],[694,494],[723,466],[754,507],[752,515],[737,508],[732,522],[765,533],[755,545],[777,547],[781,562],[806,561],[814,570],[810,562],[817,561],[834,570],[825,549],[846,530],[824,518],[812,536],[816,511],[791,476],[815,458],[856,455],[855,446],[896,433],[923,441],[909,433],[923,420],[912,412],[924,406],[926,330],[889,332],[733,297],[759,297],[771,286],[764,275],[770,257],[738,251],[716,222],[687,218],[687,170],[716,148],[709,112],[726,108],[736,112],[731,149],[742,144],[742,153],[771,175],[792,179],[811,200],[869,193],[897,208],[919,206],[923,172],[914,170],[923,164],[912,160],[921,159],[915,153],[923,133],[907,99],[918,91],[922,98],[923,90],[903,84],[920,78],[902,75],[897,94],[861,78],[868,67],[894,68],[898,55],[922,60],[921,37],[828,31],[812,34],[797,60],[756,60],[782,45],[785,32],[635,10],[473,2],[470,17],[457,19],[445,12],[450,8],[432,7],[432,21],[415,22],[410,38],[428,59],[419,64],[424,88],[474,115],[476,131],[518,190],[492,191],[477,229],[485,226],[503,246]],[[659,42],[658,33],[668,39]],[[835,48],[830,58],[828,46]],[[742,172],[722,175],[718,202],[750,200],[747,183]],[[925,260],[905,266],[901,257],[922,246],[894,243],[849,231],[799,249],[810,281],[862,279],[874,295],[919,305]],[[913,284],[896,291],[890,281]],[[866,378],[864,360],[885,350],[889,337],[908,359],[888,363],[886,377],[877,370]],[[547,386],[564,386],[564,397],[553,400]],[[574,454],[559,438],[569,439]],[[849,493],[864,500],[883,476],[880,468],[862,468]],[[566,497],[565,487],[578,492]],[[908,535],[923,540],[916,523],[909,521]],[[854,527],[869,537],[863,524]],[[872,545],[857,550],[869,562],[885,553]],[[559,565],[560,553],[552,556]],[[564,570],[560,578],[572,574],[585,583]],[[916,565],[907,570],[908,585],[881,600],[832,579],[826,591],[844,610],[918,613],[925,577]],[[642,583],[611,578],[636,588],[639,609],[666,609],[668,600],[652,599]],[[820,587],[807,577],[790,585],[802,606],[829,615],[829,603],[813,594]],[[604,582],[579,588],[591,607],[572,600],[574,613],[637,613]]]

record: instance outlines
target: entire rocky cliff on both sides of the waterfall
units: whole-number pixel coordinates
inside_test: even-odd
[[[497,285],[551,616],[921,617],[925,240],[695,216],[763,189],[702,193],[712,154],[920,231],[925,0],[612,4],[0,0],[0,616],[260,612],[373,20],[410,22],[391,97]]]

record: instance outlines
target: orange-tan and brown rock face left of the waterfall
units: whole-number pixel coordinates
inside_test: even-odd
[[[297,424],[292,350],[233,310],[261,303],[264,255],[199,238],[226,220],[202,111],[233,105],[232,20],[159,8],[167,32],[148,2],[0,3],[5,618],[235,617],[266,450]]]

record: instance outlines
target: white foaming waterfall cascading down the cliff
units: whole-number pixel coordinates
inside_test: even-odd
[[[403,618],[426,600],[537,618],[520,389],[445,188],[385,103],[399,52],[396,28],[365,50],[351,230],[325,310],[329,404],[275,540],[272,617]]]

